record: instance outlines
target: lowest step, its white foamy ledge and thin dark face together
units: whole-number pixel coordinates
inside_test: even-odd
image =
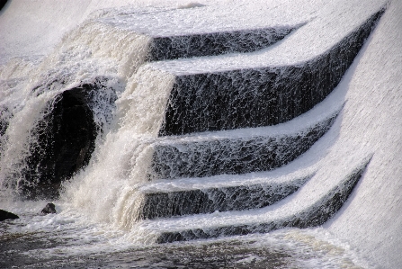
[[[251,233],[266,233],[274,229],[286,227],[300,229],[316,227],[325,223],[339,211],[349,195],[353,192],[354,186],[358,183],[369,161],[370,160],[366,160],[362,165],[357,166],[353,171],[349,172],[343,180],[328,190],[327,193],[310,204],[305,204],[304,201],[298,202],[293,199],[289,202],[288,207],[285,205],[276,211],[273,210],[268,214],[262,214],[260,217],[258,212],[256,212],[255,216],[252,216],[251,214],[253,212],[250,211],[250,213],[244,216],[237,215],[231,217],[231,220],[227,220],[228,215],[220,217],[217,215],[214,216],[213,220],[210,219],[208,215],[197,216],[198,219],[205,218],[205,220],[190,220],[190,218],[194,219],[193,216],[188,217],[189,220],[157,220],[157,223],[152,222],[153,220],[147,220],[147,229],[151,228],[153,224],[156,224],[159,230],[156,242],[167,243],[200,238],[219,238]],[[291,208],[295,203],[302,205],[297,211]],[[189,225],[190,223],[191,225]],[[196,228],[197,226],[200,227]]]

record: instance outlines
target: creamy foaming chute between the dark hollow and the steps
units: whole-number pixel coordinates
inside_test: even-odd
[[[116,129],[99,141],[90,165],[65,184],[67,201],[94,220],[131,228],[140,204],[136,190],[152,173],[153,144],[172,82],[149,69],[130,80],[116,101]]]

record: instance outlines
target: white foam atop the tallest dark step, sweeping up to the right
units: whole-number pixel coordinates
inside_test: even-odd
[[[258,67],[299,65],[331,49],[348,33],[377,12],[386,1],[366,1],[364,5],[353,1],[326,4],[314,13],[315,18],[299,30],[267,49],[250,53],[233,53],[208,58],[181,58],[150,63],[154,68],[176,76],[203,74]],[[297,9],[291,9],[296,11]],[[303,13],[309,14],[308,10]],[[300,16],[300,15],[299,15]],[[311,19],[311,18],[310,18]]]

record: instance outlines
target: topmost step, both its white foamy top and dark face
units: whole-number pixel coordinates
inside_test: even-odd
[[[311,18],[309,15],[278,16],[267,9],[262,13],[271,17],[267,23],[255,16],[255,10],[254,15],[246,13],[249,7],[228,9],[228,6],[219,8],[219,5],[147,12],[125,10],[94,22],[100,24],[99,28],[113,28],[123,34],[144,37],[147,41],[139,49],[146,51],[147,56],[143,59],[159,61],[264,49]],[[286,8],[282,10],[284,12]],[[183,17],[192,20],[183,20]]]

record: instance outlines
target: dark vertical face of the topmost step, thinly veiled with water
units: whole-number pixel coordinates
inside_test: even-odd
[[[297,28],[299,25],[153,37],[149,45],[147,61],[251,52],[269,47]]]

